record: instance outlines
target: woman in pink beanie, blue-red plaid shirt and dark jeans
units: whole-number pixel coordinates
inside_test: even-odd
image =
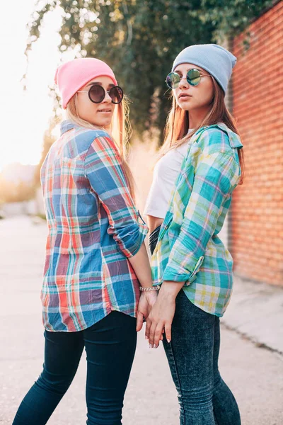
[[[41,169],[45,361],[13,425],[47,423],[83,348],[86,423],[120,425],[137,331],[156,300],[147,228],[125,162],[126,105],[112,69],[98,59],[62,64],[55,82],[68,119]]]

